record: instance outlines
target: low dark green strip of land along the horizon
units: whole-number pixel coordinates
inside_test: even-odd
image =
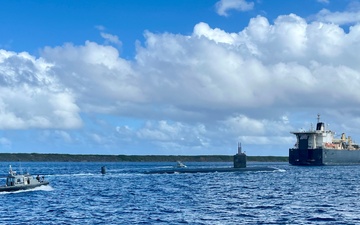
[[[0,153],[0,162],[232,162],[233,155],[80,155]],[[251,162],[288,162],[285,156],[247,156]]]

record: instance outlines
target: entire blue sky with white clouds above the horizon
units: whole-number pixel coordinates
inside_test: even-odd
[[[0,151],[287,155],[360,138],[360,1],[3,1]]]

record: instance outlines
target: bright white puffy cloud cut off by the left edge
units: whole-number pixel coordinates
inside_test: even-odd
[[[0,50],[0,129],[81,126],[75,97],[52,67],[28,53]]]

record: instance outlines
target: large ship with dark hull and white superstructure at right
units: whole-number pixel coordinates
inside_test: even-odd
[[[336,139],[335,132],[328,130],[317,117],[316,129],[290,132],[296,143],[289,149],[289,163],[296,166],[323,166],[360,164],[360,148],[345,133]]]

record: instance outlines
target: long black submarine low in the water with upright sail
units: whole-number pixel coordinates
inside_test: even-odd
[[[174,173],[215,173],[215,172],[261,172],[261,171],[275,171],[274,167],[262,167],[246,165],[246,154],[242,151],[241,143],[238,143],[238,152],[233,157],[233,167],[210,167],[210,168],[189,168],[189,167],[174,167],[169,169],[149,170],[145,174],[174,174]]]

